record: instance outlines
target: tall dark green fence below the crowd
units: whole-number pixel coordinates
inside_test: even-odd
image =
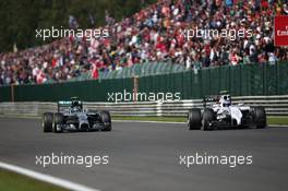
[[[143,72],[148,70],[144,67],[140,69]],[[145,94],[179,93],[181,99],[197,99],[224,89],[232,96],[288,94],[287,62],[223,65],[157,74],[160,70],[165,71],[155,70],[155,74],[147,76],[4,86],[0,87],[0,102],[57,102],[73,96],[85,102],[107,102],[109,93],[122,93],[123,89]]]

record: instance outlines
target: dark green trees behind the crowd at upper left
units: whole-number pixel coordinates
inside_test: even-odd
[[[105,16],[118,21],[132,15],[155,0],[141,2],[134,0],[0,1],[0,52],[13,51],[13,45],[22,50],[47,44],[35,38],[35,29],[52,26],[69,28],[70,16],[74,17],[80,28],[95,28],[106,24]],[[50,39],[50,43],[52,40],[55,39]]]

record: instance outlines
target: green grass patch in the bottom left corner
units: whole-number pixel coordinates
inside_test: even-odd
[[[67,191],[65,189],[0,169],[0,190],[4,191]]]

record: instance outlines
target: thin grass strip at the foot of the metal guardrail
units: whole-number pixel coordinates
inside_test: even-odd
[[[120,117],[113,116],[113,120],[135,120],[135,121],[165,121],[165,122],[187,122],[184,117]],[[288,117],[267,117],[268,124],[288,124]]]

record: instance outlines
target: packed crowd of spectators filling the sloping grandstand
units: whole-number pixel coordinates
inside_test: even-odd
[[[0,85],[67,81],[83,73],[121,70],[135,63],[171,61],[188,70],[288,60],[287,48],[273,41],[275,15],[287,15],[287,1],[159,0],[131,17],[107,17],[108,38],[76,36],[51,44],[0,53]],[[251,29],[251,37],[185,38],[183,31]]]

